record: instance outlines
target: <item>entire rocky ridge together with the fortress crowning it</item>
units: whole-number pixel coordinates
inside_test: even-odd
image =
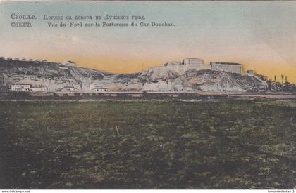
[[[48,62],[0,57],[0,91],[278,91],[266,76],[254,70],[242,73],[231,62],[204,64],[200,58],[166,62],[147,72],[113,74],[76,67],[75,62]]]

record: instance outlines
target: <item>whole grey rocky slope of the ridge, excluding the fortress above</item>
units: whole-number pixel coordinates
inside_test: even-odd
[[[33,91],[256,91],[265,81],[256,76],[190,69],[183,74],[154,71],[111,74],[54,62],[0,60],[0,86],[31,84]]]

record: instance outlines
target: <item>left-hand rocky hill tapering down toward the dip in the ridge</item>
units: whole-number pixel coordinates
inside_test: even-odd
[[[95,80],[111,74],[81,67],[66,67],[54,62],[0,60],[0,84],[8,88],[12,84],[32,84],[49,91],[73,87],[85,89]]]

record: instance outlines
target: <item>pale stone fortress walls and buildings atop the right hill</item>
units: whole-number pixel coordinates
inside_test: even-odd
[[[204,64],[204,60],[201,58],[185,58],[181,62],[166,62],[161,67],[149,67],[147,72],[154,72],[156,74],[166,74],[171,72],[173,74],[183,74],[187,70],[195,69],[210,69],[214,71],[223,71],[242,74],[242,65],[232,62],[210,62],[209,65]]]

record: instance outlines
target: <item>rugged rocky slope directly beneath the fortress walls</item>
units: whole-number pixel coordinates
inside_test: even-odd
[[[251,91],[265,89],[266,84],[254,76],[242,76],[229,72],[187,70],[184,74],[168,72],[166,76],[155,78],[153,72],[142,77],[146,82],[144,90],[156,86],[161,90],[172,91]]]

